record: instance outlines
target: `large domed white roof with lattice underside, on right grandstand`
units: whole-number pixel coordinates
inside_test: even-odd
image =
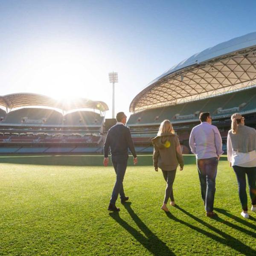
[[[217,44],[154,79],[130,111],[175,105],[256,84],[256,32]]]

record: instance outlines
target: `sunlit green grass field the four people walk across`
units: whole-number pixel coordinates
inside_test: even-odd
[[[102,162],[87,160],[96,165],[96,158]],[[163,175],[152,166],[128,166],[124,188],[130,203],[118,200],[119,214],[108,212],[113,168],[84,166],[84,159],[0,157],[0,255],[256,255],[256,214],[241,217],[227,161],[219,163],[219,217],[211,219],[194,158],[177,171],[177,207],[169,207],[169,214],[160,209]]]

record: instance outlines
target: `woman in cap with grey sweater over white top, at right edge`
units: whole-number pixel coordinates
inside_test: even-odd
[[[249,218],[245,176],[249,184],[251,210],[256,212],[256,130],[244,125],[244,117],[239,113],[233,114],[231,120],[231,130],[227,135],[227,160],[236,173],[243,209],[241,215]]]

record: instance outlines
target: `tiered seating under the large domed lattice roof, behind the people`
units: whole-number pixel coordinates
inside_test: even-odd
[[[250,111],[250,112],[249,112]],[[189,154],[188,140],[193,125],[182,125],[182,122],[197,120],[200,112],[210,112],[213,116],[213,124],[218,125],[219,118],[228,118],[235,112],[256,113],[256,87],[246,90],[239,90],[233,93],[205,98],[194,102],[186,102],[179,105],[172,105],[158,109],[142,111],[131,115],[128,120],[128,126],[131,129],[132,139],[138,152],[150,152],[151,137],[157,133],[160,122],[169,119],[174,124],[175,131],[183,148],[184,154]],[[157,120],[155,119],[157,116]],[[180,122],[180,123],[179,123]],[[199,122],[198,122],[199,123]],[[191,123],[191,124],[195,124]],[[221,137],[223,138],[223,147],[225,149],[225,139],[230,129],[230,122],[223,121],[221,128]],[[226,125],[226,126],[225,126]]]

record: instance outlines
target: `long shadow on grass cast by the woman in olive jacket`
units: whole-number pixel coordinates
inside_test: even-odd
[[[252,249],[251,247],[247,246],[246,244],[243,244],[241,241],[235,239],[234,237],[228,235],[227,233],[224,233],[223,231],[219,230],[216,227],[213,227],[212,225],[208,224],[207,222],[201,220],[200,218],[196,217],[195,215],[192,215],[191,213],[187,212],[186,210],[182,209],[181,207],[179,207],[177,204],[175,205],[175,207],[177,209],[179,209],[181,212],[185,213],[187,216],[189,216],[190,218],[194,219],[195,221],[197,221],[198,223],[204,225],[205,227],[207,227],[209,230],[214,231],[215,233],[217,233],[219,236],[216,236],[213,233],[210,233],[206,230],[201,229],[200,227],[196,227],[186,221],[180,220],[177,217],[175,217],[174,215],[172,215],[171,212],[166,212],[166,215],[174,220],[179,222],[180,224],[183,224],[189,228],[191,228],[192,230],[197,231],[198,233],[201,233],[205,236],[208,236],[210,239],[213,239],[221,244],[224,244],[236,251],[238,251],[241,254],[245,254],[245,255],[256,255],[256,250]],[[215,218],[216,221],[221,220],[219,217]]]

